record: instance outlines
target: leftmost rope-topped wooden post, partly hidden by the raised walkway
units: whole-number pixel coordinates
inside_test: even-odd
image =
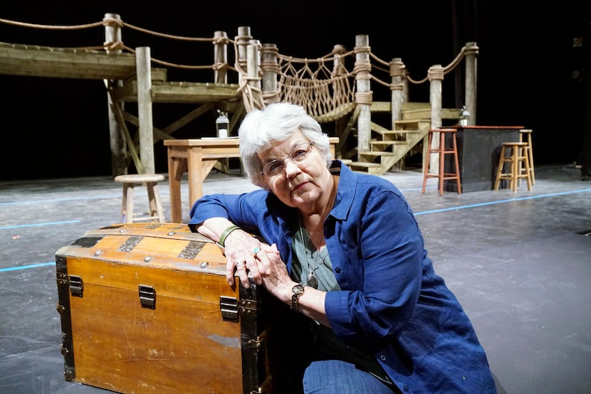
[[[122,32],[120,25],[117,22],[121,21],[121,16],[118,14],[105,14],[105,20],[113,20],[105,24],[105,43],[120,43],[122,42]],[[107,49],[107,55],[119,55],[120,49]],[[105,80],[105,87],[107,89],[115,89],[122,87],[122,80]],[[123,111],[123,102],[113,102],[111,95],[107,92],[107,108],[109,119],[109,139],[111,147],[111,173],[113,176],[127,174],[127,144],[125,143],[125,135],[117,117],[113,111],[113,105],[118,105]]]

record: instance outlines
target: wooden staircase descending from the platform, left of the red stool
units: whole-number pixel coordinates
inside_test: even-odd
[[[373,102],[372,114],[389,113],[389,102]],[[442,119],[459,117],[460,110],[443,109]],[[369,151],[357,151],[357,161],[350,163],[354,171],[382,175],[394,166],[404,168],[404,159],[412,154],[423,153],[431,128],[431,106],[424,102],[405,102],[402,119],[394,122],[394,129],[387,129],[371,122],[372,139]]]

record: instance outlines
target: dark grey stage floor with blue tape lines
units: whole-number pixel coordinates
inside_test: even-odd
[[[536,168],[532,191],[421,193],[419,171],[384,176],[409,200],[434,267],[488,353],[499,393],[591,393],[591,182]],[[167,218],[167,182],[160,183]],[[212,173],[205,193],[252,190]],[[136,204],[147,198],[138,190]],[[183,185],[184,212],[188,212]],[[63,379],[55,252],[120,220],[110,177],[0,182],[0,393],[105,393]]]

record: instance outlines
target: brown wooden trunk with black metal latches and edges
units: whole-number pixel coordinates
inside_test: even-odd
[[[263,287],[172,223],[91,230],[56,252],[65,378],[120,393],[271,393]],[[239,282],[239,281],[236,281]]]

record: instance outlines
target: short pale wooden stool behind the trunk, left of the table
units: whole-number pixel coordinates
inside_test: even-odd
[[[162,174],[130,174],[115,176],[115,182],[123,183],[123,201],[121,204],[121,223],[133,223],[147,220],[157,220],[164,223],[164,211],[158,191],[158,181],[163,181]],[[133,189],[136,183],[145,183],[150,212],[145,215],[133,213]]]

